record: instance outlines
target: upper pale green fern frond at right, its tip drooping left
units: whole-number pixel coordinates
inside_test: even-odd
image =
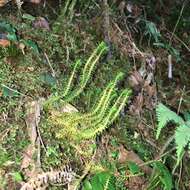
[[[156,139],[160,136],[161,130],[170,122],[173,121],[178,125],[184,124],[184,120],[175,112],[171,111],[162,103],[159,103],[156,108],[156,116],[158,120],[158,128],[156,132]]]

